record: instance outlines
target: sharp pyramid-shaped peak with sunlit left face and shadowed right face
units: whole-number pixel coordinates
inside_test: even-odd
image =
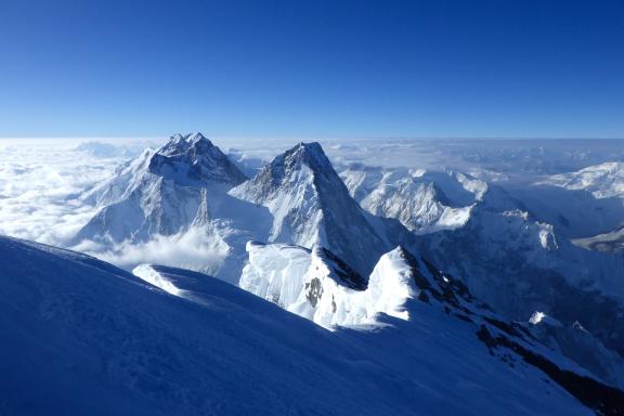
[[[269,242],[327,247],[362,274],[389,247],[318,143],[298,144],[230,194],[269,208]]]

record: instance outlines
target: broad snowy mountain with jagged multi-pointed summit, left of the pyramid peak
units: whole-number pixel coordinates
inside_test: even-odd
[[[76,239],[144,242],[210,221],[210,203],[246,177],[200,133],[172,136],[122,166],[83,198],[102,207]]]

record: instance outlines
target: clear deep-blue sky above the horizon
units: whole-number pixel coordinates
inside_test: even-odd
[[[0,1],[0,136],[194,130],[624,138],[624,1]]]

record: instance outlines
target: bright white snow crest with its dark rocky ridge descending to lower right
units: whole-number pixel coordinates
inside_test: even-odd
[[[339,263],[318,256],[317,248],[310,251],[296,246],[249,244],[248,250],[250,262],[243,272],[242,287],[323,326],[334,330],[350,327],[370,332],[390,324],[402,332],[418,332],[422,329],[420,325],[431,325],[434,321],[440,334],[448,324],[461,322],[472,328],[473,337],[504,365],[520,372],[526,369],[520,363],[534,366],[567,386],[581,401],[587,399],[583,396],[592,389],[580,386],[587,381],[588,375],[558,355],[559,350],[549,350],[537,342],[531,335],[530,325],[509,322],[495,314],[460,281],[401,247],[381,257],[366,288],[353,286],[341,277],[343,269]],[[388,348],[392,348],[390,340],[386,339]],[[596,351],[590,350],[595,359],[614,356],[607,349],[600,351],[604,355]],[[618,361],[613,363],[618,364]],[[597,368],[606,370],[602,374],[609,384],[621,381],[609,368]],[[580,385],[571,388],[576,382]]]

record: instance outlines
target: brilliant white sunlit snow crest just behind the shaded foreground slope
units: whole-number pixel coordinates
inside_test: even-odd
[[[318,246],[249,243],[247,251],[242,288],[327,328],[375,324],[379,313],[407,320],[405,302],[418,292],[402,248],[381,257],[367,286]]]

